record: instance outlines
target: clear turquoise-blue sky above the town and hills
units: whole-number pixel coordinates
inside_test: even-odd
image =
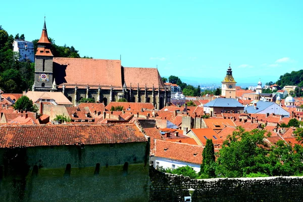
[[[9,34],[48,36],[80,56],[156,67],[188,83],[276,81],[303,69],[303,1],[5,1]],[[80,2],[80,1],[79,1]]]

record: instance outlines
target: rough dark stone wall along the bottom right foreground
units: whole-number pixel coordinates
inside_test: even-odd
[[[303,177],[190,179],[149,170],[149,201],[303,201]]]

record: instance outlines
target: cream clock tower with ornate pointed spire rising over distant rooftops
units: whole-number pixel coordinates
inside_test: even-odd
[[[234,80],[232,76],[232,71],[230,68],[227,69],[226,76],[222,83],[222,93],[221,96],[226,98],[236,98],[236,81]]]

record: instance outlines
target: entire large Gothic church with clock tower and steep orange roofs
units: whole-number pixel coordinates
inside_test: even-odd
[[[46,24],[37,42],[33,91],[61,91],[76,105],[81,98],[96,102],[153,103],[162,109],[170,102],[157,68],[123,67],[121,60],[56,58],[51,52]]]

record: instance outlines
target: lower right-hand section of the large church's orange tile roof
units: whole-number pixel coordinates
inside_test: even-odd
[[[140,88],[146,87],[151,89],[153,84],[155,88],[164,89],[164,83],[158,72],[157,68],[136,68],[136,67],[124,67],[124,81],[127,87],[137,88],[139,84]],[[157,92],[158,93],[158,92]]]

